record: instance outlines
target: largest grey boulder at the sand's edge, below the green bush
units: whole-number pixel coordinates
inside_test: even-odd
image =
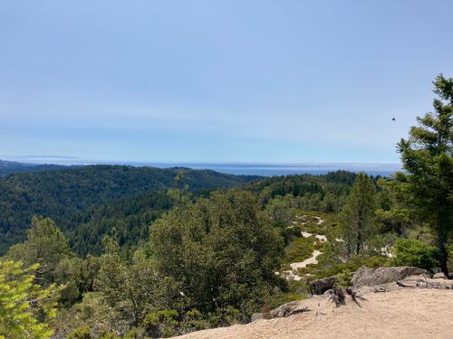
[[[356,288],[376,286],[419,275],[429,275],[429,273],[425,269],[409,266],[376,269],[362,266],[352,276],[352,286]]]

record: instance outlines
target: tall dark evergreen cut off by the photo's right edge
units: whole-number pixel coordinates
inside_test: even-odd
[[[398,151],[407,171],[402,189],[436,235],[439,264],[448,277],[448,235],[453,228],[453,79],[434,81],[434,112],[417,118]],[[404,174],[399,174],[404,176]]]

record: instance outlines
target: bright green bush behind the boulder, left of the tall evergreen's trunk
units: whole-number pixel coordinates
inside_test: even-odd
[[[395,258],[391,260],[394,266],[415,266],[432,270],[436,267],[437,250],[423,241],[399,239],[394,246]]]

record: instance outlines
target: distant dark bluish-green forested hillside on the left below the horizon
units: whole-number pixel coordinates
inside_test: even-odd
[[[120,165],[90,165],[0,178],[0,253],[24,240],[32,216],[52,217],[66,225],[74,213],[151,191],[171,187],[215,189],[245,184],[255,176],[220,174],[208,170],[160,169]]]

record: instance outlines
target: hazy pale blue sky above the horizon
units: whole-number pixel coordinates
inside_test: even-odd
[[[0,1],[0,158],[396,162],[453,1]],[[391,121],[392,117],[397,121]]]

